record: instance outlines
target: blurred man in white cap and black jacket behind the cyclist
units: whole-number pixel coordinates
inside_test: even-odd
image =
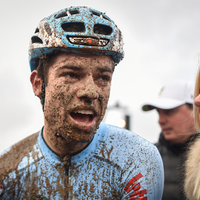
[[[164,164],[163,200],[186,199],[183,192],[182,164],[188,144],[197,134],[193,117],[194,83],[174,80],[165,84],[156,99],[142,106],[156,109],[161,133],[158,148]]]

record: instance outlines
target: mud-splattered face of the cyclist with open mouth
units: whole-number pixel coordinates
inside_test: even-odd
[[[105,114],[113,70],[109,56],[57,55],[45,88],[46,130],[70,144],[90,141]]]

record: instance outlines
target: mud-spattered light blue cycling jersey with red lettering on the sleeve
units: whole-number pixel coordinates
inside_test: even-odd
[[[9,159],[5,170],[3,161]],[[161,200],[164,185],[157,148],[104,123],[83,151],[64,160],[48,148],[40,131],[2,154],[1,169],[0,199],[6,200]]]

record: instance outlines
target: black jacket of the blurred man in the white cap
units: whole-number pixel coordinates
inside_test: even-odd
[[[191,136],[185,144],[172,144],[160,134],[155,146],[164,164],[165,183],[162,200],[186,200],[183,192],[185,154],[197,135]]]

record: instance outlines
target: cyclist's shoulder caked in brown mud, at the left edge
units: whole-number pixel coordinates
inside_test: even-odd
[[[22,158],[29,155],[29,152],[33,150],[34,144],[37,143],[38,133],[28,136],[0,154],[1,178],[15,170]]]

